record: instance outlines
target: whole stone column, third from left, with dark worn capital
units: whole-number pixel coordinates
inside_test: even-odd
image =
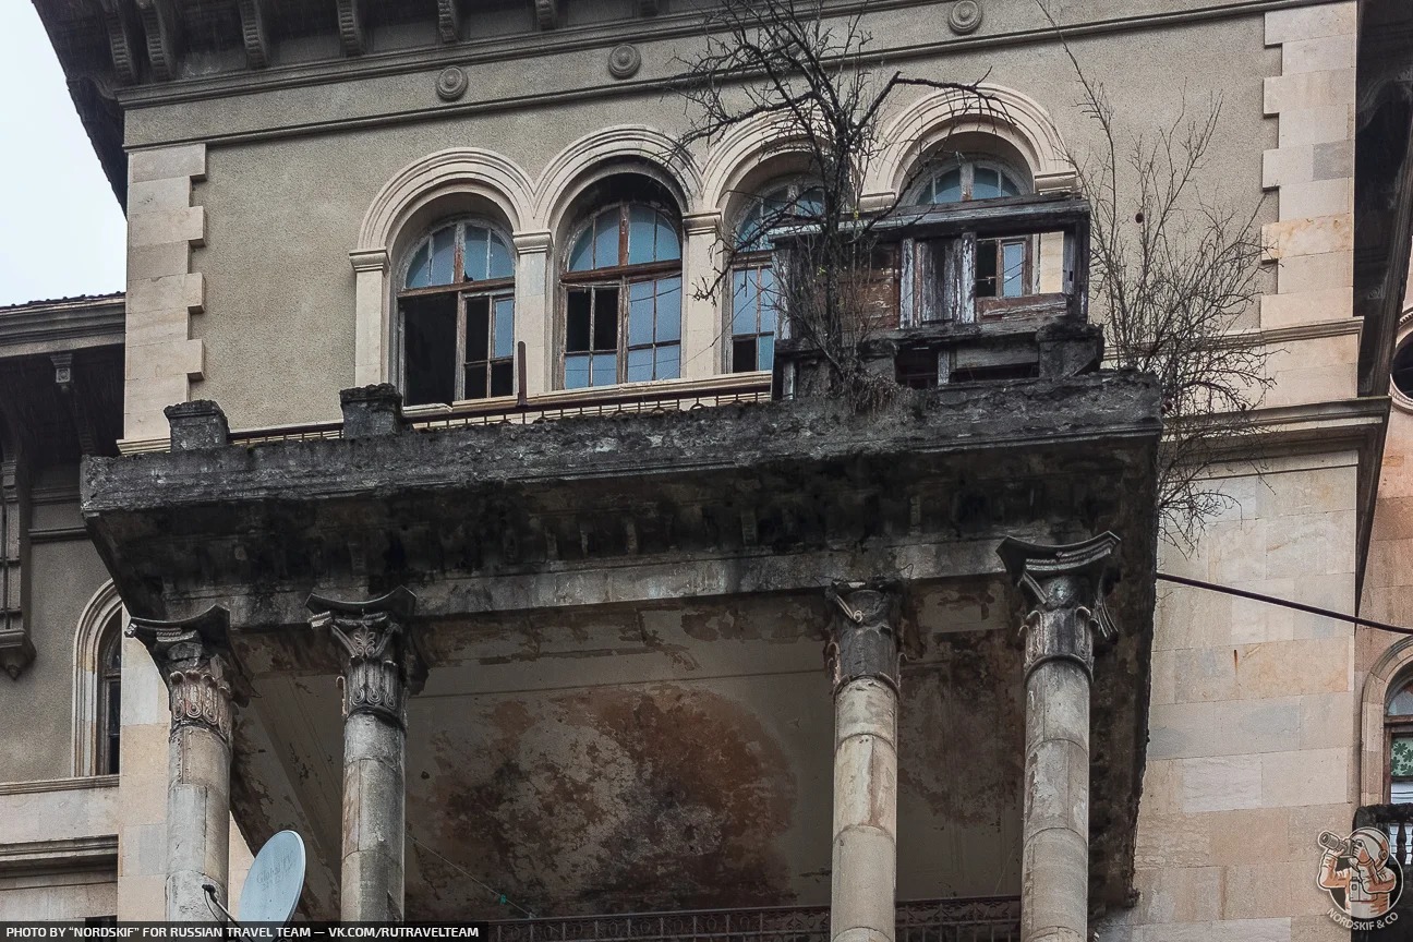
[[[832,942],[893,942],[897,888],[897,597],[836,585],[827,658],[834,681]]]

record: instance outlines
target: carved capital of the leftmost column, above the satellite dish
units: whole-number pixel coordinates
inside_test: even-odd
[[[220,606],[178,621],[129,620],[127,636],[147,647],[167,682],[172,734],[195,726],[230,743],[239,672],[229,627],[230,616]]]

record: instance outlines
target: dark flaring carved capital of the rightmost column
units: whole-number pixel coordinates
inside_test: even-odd
[[[1031,603],[1020,623],[1027,678],[1046,661],[1074,661],[1094,674],[1094,636],[1115,634],[1104,599],[1119,578],[1119,542],[1112,532],[1060,547],[1006,537],[996,548]]]

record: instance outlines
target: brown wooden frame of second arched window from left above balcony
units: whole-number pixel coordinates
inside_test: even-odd
[[[626,264],[625,263],[625,260],[627,258],[627,253],[629,253],[630,212],[632,212],[632,209],[634,206],[651,209],[653,212],[656,212],[660,216],[666,217],[671,223],[673,233],[677,236],[677,258],[668,258],[668,260],[664,260],[664,261],[644,261],[644,263],[639,263],[639,264]],[[609,266],[609,267],[603,267],[603,268],[588,268],[588,270],[584,270],[584,271],[569,271],[569,253],[574,251],[574,247],[578,244],[579,239],[584,236],[585,232],[591,232],[592,233],[595,222],[598,222],[598,219],[601,216],[603,216],[605,213],[610,213],[613,210],[617,210],[617,213],[619,213],[619,249],[617,249],[617,258],[619,258],[620,264],[617,264],[617,266]],[[591,234],[589,239],[592,240],[593,236]],[[654,371],[654,376],[653,376],[651,380],[633,380],[634,383],[657,383],[657,381],[661,381],[661,380],[681,378],[681,374],[682,374],[682,333],[684,333],[684,321],[687,318],[685,281],[684,281],[684,273],[682,273],[682,256],[685,254],[684,250],[685,250],[685,246],[684,246],[684,240],[682,240],[682,225],[681,225],[681,220],[677,217],[675,210],[673,210],[673,209],[670,209],[667,206],[663,206],[661,203],[653,202],[653,201],[642,201],[642,199],[617,201],[617,202],[609,203],[608,206],[601,206],[601,208],[595,209],[584,220],[581,220],[578,226],[575,226],[575,229],[571,233],[569,239],[565,240],[565,254],[564,254],[562,268],[561,268],[561,274],[560,274],[560,291],[558,291],[558,295],[560,295],[558,297],[560,316],[555,319],[557,325],[558,325],[558,343],[555,343],[557,359],[558,359],[555,374],[557,374],[558,388],[561,388],[561,390],[567,390],[567,388],[603,388],[605,386],[623,386],[625,383],[629,383],[629,378],[627,378],[627,369],[629,369],[627,367],[627,359],[629,359],[629,352],[630,350],[643,350],[643,349],[653,350],[653,371]],[[642,345],[642,343],[633,345],[633,343],[630,343],[629,342],[629,314],[630,314],[630,309],[632,309],[632,301],[630,301],[632,287],[630,285],[646,284],[646,282],[657,282],[657,281],[663,281],[663,280],[674,278],[674,277],[677,278],[678,291],[681,292],[681,297],[678,298],[677,340],[675,342],[664,342],[664,343],[658,343],[657,342],[657,339],[656,339],[657,315],[656,315],[656,311],[654,311],[654,321],[653,321],[654,340],[653,340],[653,343],[649,343],[649,345]],[[608,354],[608,349],[603,349],[603,350],[593,349],[593,326],[595,326],[595,321],[598,318],[598,309],[596,309],[598,308],[598,295],[599,295],[599,292],[602,290],[606,290],[606,288],[617,291],[617,312],[616,312],[616,319],[617,319],[617,326],[616,326],[617,346],[613,350],[613,357],[615,357],[613,383],[596,384],[596,383],[593,383],[592,357],[595,357],[595,356],[606,356]],[[571,291],[584,291],[584,290],[589,291],[589,305],[591,305],[591,308],[589,308],[589,311],[591,311],[589,312],[589,349],[588,350],[575,350],[574,353],[571,353],[568,350],[568,346],[569,346],[569,342],[568,342],[569,340],[568,339],[569,292]],[[656,373],[657,373],[657,349],[658,347],[664,347],[666,349],[666,347],[670,347],[670,346],[675,346],[677,347],[677,376],[675,377],[658,377],[658,376],[656,376]],[[568,384],[568,359],[571,356],[584,356],[584,354],[588,354],[589,359],[591,359],[589,383],[588,383],[588,386],[584,386],[584,387],[569,387],[569,384]]]

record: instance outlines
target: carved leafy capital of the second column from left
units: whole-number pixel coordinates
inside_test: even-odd
[[[311,595],[309,624],[328,628],[343,651],[343,716],[369,713],[407,726],[407,698],[427,679],[427,667],[408,631],[417,596],[397,588],[367,602]]]

